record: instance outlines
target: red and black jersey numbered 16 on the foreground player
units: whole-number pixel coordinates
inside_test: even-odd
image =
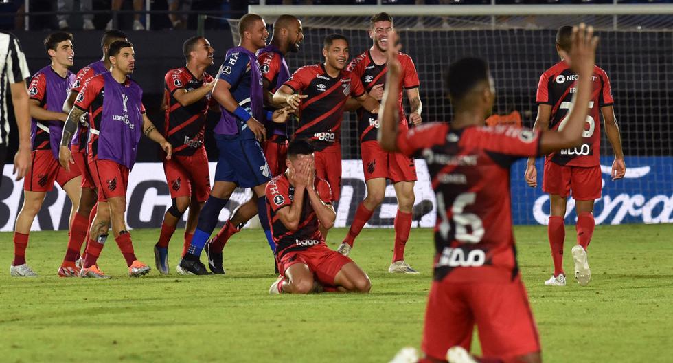
[[[510,166],[538,155],[539,142],[537,131],[516,126],[433,122],[398,133],[402,153],[426,160],[435,190],[435,280],[499,282],[518,274]]]

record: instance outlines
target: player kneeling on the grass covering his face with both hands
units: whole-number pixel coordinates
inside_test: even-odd
[[[305,139],[290,142],[286,173],[266,184],[266,203],[277,244],[281,276],[271,294],[369,292],[369,277],[347,256],[325,243],[319,226],[331,228],[336,212],[327,181],[315,176],[313,146]]]

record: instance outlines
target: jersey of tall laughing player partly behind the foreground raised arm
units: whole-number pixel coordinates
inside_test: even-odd
[[[420,86],[416,67],[408,54],[398,52],[398,61],[402,65],[402,76],[400,77],[400,125],[399,129],[409,129],[407,118],[404,115],[402,106],[402,89],[413,89]],[[385,78],[388,72],[386,63],[377,65],[372,59],[369,50],[360,54],[351,61],[346,68],[352,71],[362,81],[365,91],[369,92],[376,85],[385,85]],[[378,115],[371,113],[362,107],[358,109],[358,135],[360,142],[376,140],[378,133]]]

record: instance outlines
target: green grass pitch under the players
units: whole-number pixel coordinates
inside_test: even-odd
[[[329,235],[332,248],[345,229]],[[154,268],[158,230],[134,230],[135,250]],[[270,296],[271,253],[259,230],[225,248],[226,276],[171,272],[126,277],[114,241],[100,266],[109,281],[58,278],[65,232],[33,232],[27,260],[41,275],[10,278],[12,234],[1,233],[1,362],[387,362],[420,346],[431,283],[432,232],[414,229],[407,261],[421,274],[387,273],[393,230],[365,229],[352,258],[371,294]],[[545,287],[546,228],[516,228],[521,271],[546,362],[673,361],[673,225],[598,226],[589,247],[589,286]],[[564,267],[572,274],[568,226]],[[477,347],[478,349],[478,347]]]

